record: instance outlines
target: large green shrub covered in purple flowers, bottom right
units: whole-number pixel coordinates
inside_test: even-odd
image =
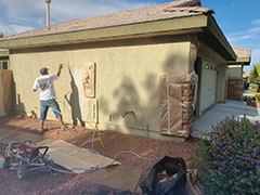
[[[199,176],[206,194],[260,194],[260,122],[226,117],[202,142]]]

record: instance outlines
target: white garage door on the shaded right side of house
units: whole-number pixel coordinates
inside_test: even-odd
[[[204,113],[216,103],[217,70],[217,65],[208,62],[203,63],[200,113]]]

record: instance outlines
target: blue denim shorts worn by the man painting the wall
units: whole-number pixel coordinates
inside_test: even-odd
[[[52,112],[54,113],[56,118],[60,118],[62,116],[60,106],[55,100],[40,101],[40,120],[46,120],[49,107],[52,108]]]

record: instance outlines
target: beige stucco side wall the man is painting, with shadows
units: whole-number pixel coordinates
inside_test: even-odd
[[[39,94],[31,86],[42,66],[55,73],[64,63],[61,78],[55,81],[57,102],[67,121],[75,117],[99,121],[101,129],[121,130],[126,133],[160,136],[158,82],[159,76],[186,74],[188,70],[190,41],[185,36],[166,36],[125,41],[84,43],[44,49],[11,51],[10,64],[15,82],[15,108],[39,117]],[[82,96],[81,73],[89,63],[96,66],[95,99]],[[70,67],[72,76],[68,67]],[[78,100],[73,100],[72,96]],[[133,110],[121,117],[122,112]],[[49,112],[49,119],[54,119]],[[128,128],[126,128],[128,127]],[[154,132],[155,131],[155,132]]]

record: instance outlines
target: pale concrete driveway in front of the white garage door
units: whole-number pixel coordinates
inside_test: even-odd
[[[216,126],[226,116],[242,118],[246,116],[250,121],[260,120],[260,109],[247,106],[246,102],[226,101],[225,104],[217,104],[194,122],[192,136],[205,138],[203,134],[211,131],[211,126]]]

